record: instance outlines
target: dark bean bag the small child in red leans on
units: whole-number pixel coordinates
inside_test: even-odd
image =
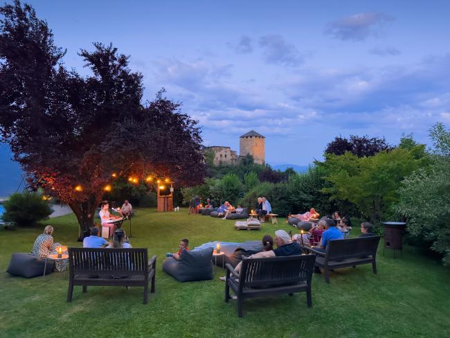
[[[181,259],[172,257],[163,262],[163,271],[179,282],[207,281],[213,279],[213,248],[183,250]]]

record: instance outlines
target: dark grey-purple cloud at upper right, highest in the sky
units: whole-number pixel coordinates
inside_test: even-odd
[[[327,24],[325,34],[343,41],[363,41],[379,35],[381,28],[394,17],[381,12],[363,12]]]

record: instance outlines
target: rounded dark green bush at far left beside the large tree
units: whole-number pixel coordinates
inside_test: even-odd
[[[41,195],[36,193],[15,193],[5,202],[3,220],[17,225],[33,225],[53,213],[53,209]]]

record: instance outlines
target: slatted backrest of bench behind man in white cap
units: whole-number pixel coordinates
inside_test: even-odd
[[[311,283],[316,256],[244,258],[240,287],[268,287],[290,283]]]

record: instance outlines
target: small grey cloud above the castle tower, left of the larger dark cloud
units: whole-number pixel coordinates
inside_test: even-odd
[[[297,48],[293,44],[286,42],[281,35],[260,37],[259,44],[264,50],[264,60],[269,64],[298,66],[304,61]]]

